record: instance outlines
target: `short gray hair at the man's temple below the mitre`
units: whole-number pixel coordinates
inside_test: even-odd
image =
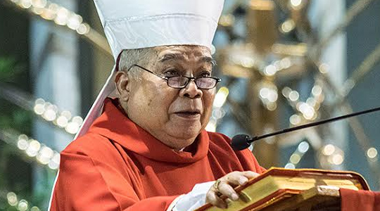
[[[136,69],[132,68],[132,65],[148,66],[153,61],[154,57],[157,56],[157,52],[154,48],[144,48],[144,49],[127,49],[123,50],[120,55],[119,68],[121,71],[128,71],[128,74],[134,79],[139,79],[139,72],[134,71]],[[132,68],[132,69],[131,69]]]

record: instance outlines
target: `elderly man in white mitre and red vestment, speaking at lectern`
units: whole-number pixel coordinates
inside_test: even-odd
[[[114,1],[126,4],[123,0]],[[154,7],[155,1],[144,0],[139,4]],[[220,82],[213,77],[215,61],[207,44],[213,36],[206,38],[206,44],[199,41],[203,35],[170,44],[160,41],[167,40],[167,36],[174,36],[172,39],[179,36],[169,32],[172,27],[182,27],[184,32],[200,31],[194,31],[195,34],[213,34],[216,26],[204,32],[202,27],[198,28],[202,21],[207,21],[203,30],[210,22],[194,6],[198,1],[165,2],[168,6],[162,6],[160,14],[140,16],[144,19],[143,26],[149,25],[149,21],[157,25],[158,17],[167,21],[167,15],[178,18],[170,20],[174,21],[172,24],[182,24],[185,18],[189,25],[161,25],[166,30],[151,31],[152,39],[158,42],[144,44],[144,48],[127,49],[130,42],[116,43],[115,37],[128,37],[127,32],[118,35],[116,30],[107,31],[103,11],[102,23],[118,60],[118,71],[113,71],[111,77],[117,97],[106,98],[100,117],[61,153],[50,210],[185,211],[204,203],[227,207],[221,197],[237,200],[234,186],[245,184],[263,171],[250,151],[233,151],[227,136],[205,131],[215,86]],[[210,2],[210,6],[219,10],[202,11],[216,13],[219,18],[222,1]],[[97,0],[96,5],[102,11],[106,1]],[[184,15],[191,8],[196,9]],[[112,14],[118,9],[114,6]],[[125,25],[131,26],[132,23]],[[114,27],[120,27],[120,23]],[[162,38],[156,37],[163,33]],[[103,104],[103,99],[99,101]]]

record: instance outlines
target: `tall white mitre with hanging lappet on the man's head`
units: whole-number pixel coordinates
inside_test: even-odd
[[[211,49],[224,0],[94,0],[113,58],[123,49],[198,45]],[[75,138],[99,117],[115,90],[116,65]]]

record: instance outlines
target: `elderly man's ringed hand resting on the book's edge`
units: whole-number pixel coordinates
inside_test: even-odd
[[[239,196],[234,191],[234,187],[246,184],[248,179],[258,177],[258,173],[247,172],[231,172],[224,177],[217,179],[215,184],[211,186],[206,194],[206,203],[210,203],[220,208],[227,208],[227,203],[222,200],[221,196],[227,196],[231,200],[238,200]]]

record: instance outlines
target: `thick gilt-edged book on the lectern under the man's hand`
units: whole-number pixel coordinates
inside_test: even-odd
[[[239,200],[227,199],[227,210],[260,210],[273,203],[286,200],[300,193],[315,193],[314,188],[329,187],[369,190],[368,184],[360,174],[346,171],[270,168],[243,186],[237,186]],[[222,210],[206,204],[196,211]],[[224,209],[225,210],[225,209]]]

